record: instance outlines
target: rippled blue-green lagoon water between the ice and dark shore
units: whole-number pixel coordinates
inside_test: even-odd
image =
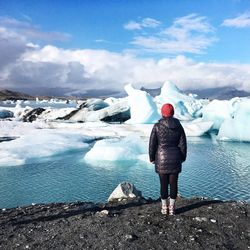
[[[188,141],[188,158],[179,193],[250,202],[250,143]],[[0,168],[0,208],[64,201],[107,200],[122,181],[130,181],[145,197],[159,197],[159,180],[151,164],[116,162],[86,164],[84,151],[72,151],[43,162]]]

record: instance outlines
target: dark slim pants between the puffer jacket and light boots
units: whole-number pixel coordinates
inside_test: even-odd
[[[178,173],[159,174],[161,184],[161,198],[168,198],[168,185],[170,184],[170,198],[176,199],[178,192]]]

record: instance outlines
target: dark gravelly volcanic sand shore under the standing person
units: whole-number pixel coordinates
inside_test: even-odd
[[[250,249],[249,204],[180,198],[177,208],[167,217],[139,199],[7,209],[0,249]]]

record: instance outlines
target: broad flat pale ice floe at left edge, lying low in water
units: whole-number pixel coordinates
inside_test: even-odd
[[[31,127],[30,127],[31,128]],[[31,129],[13,141],[1,142],[0,166],[21,165],[71,149],[87,148],[83,135],[66,130]]]

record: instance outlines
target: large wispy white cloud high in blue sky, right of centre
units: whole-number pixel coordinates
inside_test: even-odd
[[[175,19],[172,26],[150,35],[134,37],[131,42],[155,53],[203,53],[216,41],[214,28],[206,17],[197,14]]]

